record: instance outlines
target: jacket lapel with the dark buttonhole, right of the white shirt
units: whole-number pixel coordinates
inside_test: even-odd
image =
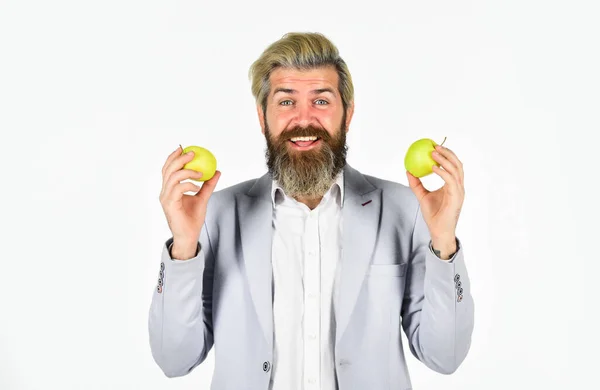
[[[336,344],[346,330],[375,248],[381,216],[381,189],[357,170],[344,168],[342,256]]]

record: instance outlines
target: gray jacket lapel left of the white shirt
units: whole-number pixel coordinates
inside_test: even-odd
[[[273,271],[271,265],[273,204],[271,179],[259,178],[247,193],[236,195],[242,255],[258,320],[273,346]]]

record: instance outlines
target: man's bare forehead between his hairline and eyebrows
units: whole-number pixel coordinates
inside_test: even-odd
[[[313,88],[327,86],[337,91],[338,74],[333,66],[299,70],[292,68],[277,68],[269,76],[271,93],[277,87]]]

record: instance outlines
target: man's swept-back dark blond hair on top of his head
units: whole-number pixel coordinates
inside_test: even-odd
[[[338,73],[338,90],[346,112],[354,100],[352,77],[337,47],[320,33],[290,32],[269,45],[250,66],[252,95],[266,112],[271,89],[269,77],[273,70],[282,67],[304,71],[327,66],[334,66]]]

